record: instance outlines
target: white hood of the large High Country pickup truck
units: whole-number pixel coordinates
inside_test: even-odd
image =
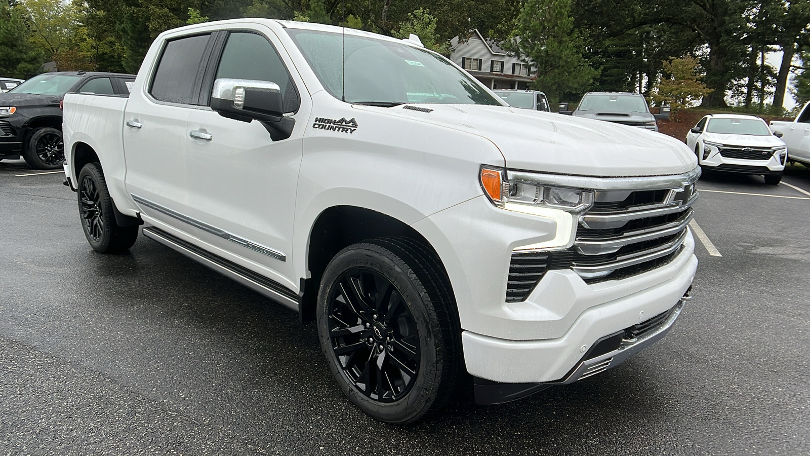
[[[559,174],[650,176],[681,174],[697,166],[686,144],[654,131],[616,123],[508,106],[419,105],[429,113],[393,108],[386,114],[416,118],[491,140],[506,166]]]

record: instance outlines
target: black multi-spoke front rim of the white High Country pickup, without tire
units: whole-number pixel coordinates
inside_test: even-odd
[[[340,368],[367,398],[394,402],[420,369],[419,330],[411,310],[386,277],[349,269],[329,298],[329,337]]]

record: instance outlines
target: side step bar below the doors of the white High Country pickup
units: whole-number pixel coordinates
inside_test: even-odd
[[[298,295],[287,287],[275,282],[261,274],[254,273],[233,261],[225,260],[223,257],[207,252],[192,243],[186,242],[183,239],[177,238],[172,234],[168,234],[164,230],[160,230],[154,226],[144,226],[143,235],[149,239],[154,239],[165,246],[171,247],[177,252],[188,256],[190,259],[197,261],[199,264],[214,269],[216,272],[228,277],[236,282],[247,286],[249,289],[254,290],[259,295],[266,296],[277,303],[282,304],[284,307],[291,308],[298,312],[299,299]]]

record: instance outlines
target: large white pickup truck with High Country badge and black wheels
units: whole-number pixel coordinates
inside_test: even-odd
[[[620,364],[663,338],[697,268],[683,143],[511,108],[416,36],[177,28],[130,97],[67,94],[64,133],[96,251],[143,224],[292,308],[390,423],[463,381],[498,403]]]

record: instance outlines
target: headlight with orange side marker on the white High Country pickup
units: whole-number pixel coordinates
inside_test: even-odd
[[[481,187],[489,200],[499,207],[506,204],[522,204],[549,209],[561,209],[578,213],[590,208],[594,202],[593,191],[579,188],[559,187],[544,183],[542,179],[525,179],[528,173],[521,173],[522,179],[506,179],[505,170],[482,167]]]

